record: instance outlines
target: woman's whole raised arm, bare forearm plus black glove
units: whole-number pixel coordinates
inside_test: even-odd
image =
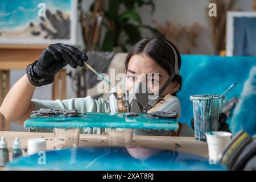
[[[83,67],[88,57],[79,49],[65,44],[51,44],[39,56],[38,61],[26,68],[26,75],[11,88],[0,107],[0,113],[10,122],[23,125],[35,110],[31,98],[36,86],[51,84],[57,72],[66,65]]]

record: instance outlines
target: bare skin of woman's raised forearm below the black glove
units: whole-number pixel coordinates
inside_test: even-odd
[[[31,102],[35,89],[36,86],[30,83],[26,74],[13,85],[0,107],[0,113],[7,121],[23,125],[31,111],[35,110]]]

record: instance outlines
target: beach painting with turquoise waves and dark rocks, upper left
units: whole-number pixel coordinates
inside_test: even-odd
[[[1,44],[76,44],[77,0],[2,0]]]

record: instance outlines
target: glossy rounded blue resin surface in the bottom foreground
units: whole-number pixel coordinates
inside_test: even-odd
[[[208,159],[171,150],[142,147],[82,147],[14,160],[7,169],[28,170],[225,170]]]

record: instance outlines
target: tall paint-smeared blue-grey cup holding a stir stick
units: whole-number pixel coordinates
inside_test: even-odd
[[[223,97],[218,95],[190,96],[193,102],[193,116],[195,138],[200,142],[206,142],[205,133],[218,131]]]

